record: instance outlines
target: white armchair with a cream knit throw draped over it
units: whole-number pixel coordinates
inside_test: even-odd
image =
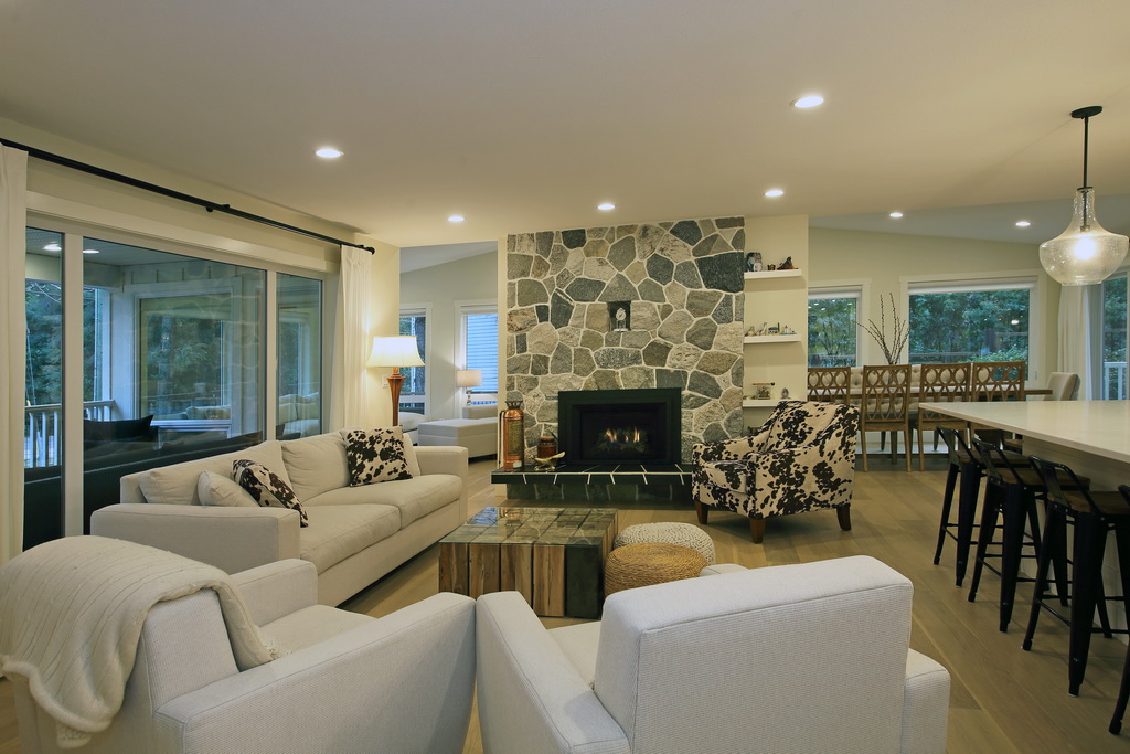
[[[215,591],[158,603],[121,710],[75,749],[461,752],[475,681],[475,604],[442,593],[382,618],[318,605],[311,563],[233,580],[264,636],[293,650],[240,671]],[[24,752],[60,752],[54,720],[12,677]]]

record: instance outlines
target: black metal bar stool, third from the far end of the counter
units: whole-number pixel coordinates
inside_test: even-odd
[[[1090,634],[1102,631],[1104,635],[1127,633],[1125,630],[1110,627],[1106,618],[1105,601],[1122,600],[1130,615],[1130,502],[1121,492],[1090,492],[1083,477],[1076,476],[1063,463],[1032,458],[1032,465],[1048,488],[1048,521],[1044,523],[1044,548],[1040,565],[1036,569],[1036,590],[1032,600],[1032,613],[1028,616],[1028,630],[1024,635],[1024,649],[1032,649],[1032,638],[1036,633],[1036,622],[1040,619],[1040,608],[1046,608],[1071,627],[1068,659],[1068,693],[1079,695],[1084,675],[1087,671],[1087,653],[1090,650]],[[1066,484],[1064,484],[1066,483]],[[1071,610],[1064,618],[1044,599],[1048,588],[1048,565],[1054,551],[1062,551],[1067,543],[1067,522],[1075,522],[1075,545],[1071,558]],[[1106,535],[1114,531],[1118,547],[1119,572],[1122,580],[1122,595],[1106,597],[1103,593],[1103,553],[1106,548]],[[1099,610],[1102,626],[1095,629],[1095,609]],[[1123,684],[1124,685],[1124,684]],[[1121,695],[1120,695],[1121,697]],[[1121,719],[1121,714],[1118,716]],[[1113,725],[1113,722],[1112,722]]]

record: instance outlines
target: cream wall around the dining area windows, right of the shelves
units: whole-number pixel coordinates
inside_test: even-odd
[[[1040,267],[1036,244],[942,239],[936,236],[869,233],[809,228],[810,287],[861,283],[863,298],[860,321],[879,320],[879,298],[894,294],[905,317],[907,278],[937,276],[946,278],[989,279],[992,276],[1035,275],[1036,311],[1032,327],[1037,333],[1032,363],[1036,367],[1034,382],[1046,382],[1055,366],[1055,322],[1060,286]],[[887,300],[889,302],[889,300]],[[890,306],[887,305],[889,313]],[[889,314],[888,314],[889,315]],[[860,331],[861,359],[864,364],[884,364],[878,345]]]

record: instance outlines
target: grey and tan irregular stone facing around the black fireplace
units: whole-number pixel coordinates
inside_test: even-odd
[[[723,217],[506,239],[505,395],[524,401],[528,456],[560,390],[683,389],[684,461],[741,434],[745,236]],[[615,332],[623,301],[632,329]]]

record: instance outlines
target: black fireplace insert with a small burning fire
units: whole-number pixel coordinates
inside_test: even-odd
[[[562,390],[557,431],[565,463],[678,463],[681,405],[678,388]]]

